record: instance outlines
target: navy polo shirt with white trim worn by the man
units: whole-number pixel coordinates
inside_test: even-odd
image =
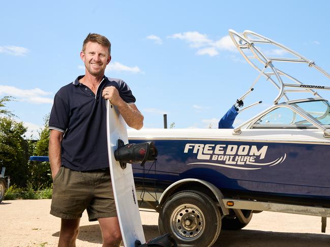
[[[62,165],[78,171],[109,167],[104,87],[114,86],[125,102],[135,102],[131,89],[121,79],[104,77],[95,95],[79,82],[83,77],[58,90],[49,117],[49,129],[65,133]]]

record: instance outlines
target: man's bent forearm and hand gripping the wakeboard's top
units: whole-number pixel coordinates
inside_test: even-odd
[[[141,129],[143,127],[143,115],[135,104],[126,103],[115,87],[110,86],[104,88],[102,96],[105,99],[110,99],[111,103],[118,108],[128,126],[134,129]]]

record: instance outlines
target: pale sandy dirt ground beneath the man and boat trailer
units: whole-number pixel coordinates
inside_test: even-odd
[[[0,204],[0,246],[57,246],[60,220],[49,215],[50,200],[10,200]],[[147,209],[146,209],[147,210]],[[140,211],[145,238],[159,235],[158,214]],[[97,222],[84,214],[77,246],[102,246]],[[330,222],[321,233],[321,218],[262,212],[240,231],[221,231],[215,247],[323,247],[330,246]],[[200,246],[202,247],[202,246]]]

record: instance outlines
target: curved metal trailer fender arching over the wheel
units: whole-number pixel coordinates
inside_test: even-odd
[[[222,201],[222,199],[224,199],[224,195],[221,193],[221,191],[215,185],[200,179],[183,179],[171,184],[169,187],[166,188],[166,190],[159,198],[158,206],[162,206],[166,201],[166,198],[168,198],[172,194],[172,192],[175,191],[178,187],[189,183],[200,183],[201,185],[211,190],[220,204],[223,215],[229,215],[228,208],[225,207],[225,204]]]

